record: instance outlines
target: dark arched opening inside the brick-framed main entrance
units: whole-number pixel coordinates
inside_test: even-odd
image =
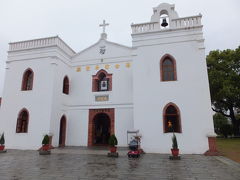
[[[110,118],[106,113],[99,113],[93,119],[93,144],[107,145],[110,136]]]

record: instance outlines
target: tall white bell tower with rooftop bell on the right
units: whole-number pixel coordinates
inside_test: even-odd
[[[150,22],[131,25],[134,128],[147,152],[169,151],[171,134],[164,130],[169,104],[178,109],[181,152],[208,150],[207,135],[214,128],[201,18],[179,17],[173,4],[163,3],[153,8]],[[197,127],[194,134],[191,127]],[[151,143],[153,137],[157,141]],[[194,141],[199,146],[188,148]]]

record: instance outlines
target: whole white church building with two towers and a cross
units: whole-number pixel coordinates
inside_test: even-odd
[[[214,135],[201,14],[179,17],[174,5],[153,8],[132,24],[132,47],[103,33],[76,53],[60,37],[9,43],[0,106],[8,149],[104,146],[139,130],[149,153],[204,153]],[[84,38],[84,37],[82,37]],[[168,127],[171,122],[173,128]]]

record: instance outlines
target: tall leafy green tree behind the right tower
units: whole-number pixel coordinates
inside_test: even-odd
[[[207,56],[212,109],[232,121],[240,135],[240,46],[235,50],[211,51]]]

